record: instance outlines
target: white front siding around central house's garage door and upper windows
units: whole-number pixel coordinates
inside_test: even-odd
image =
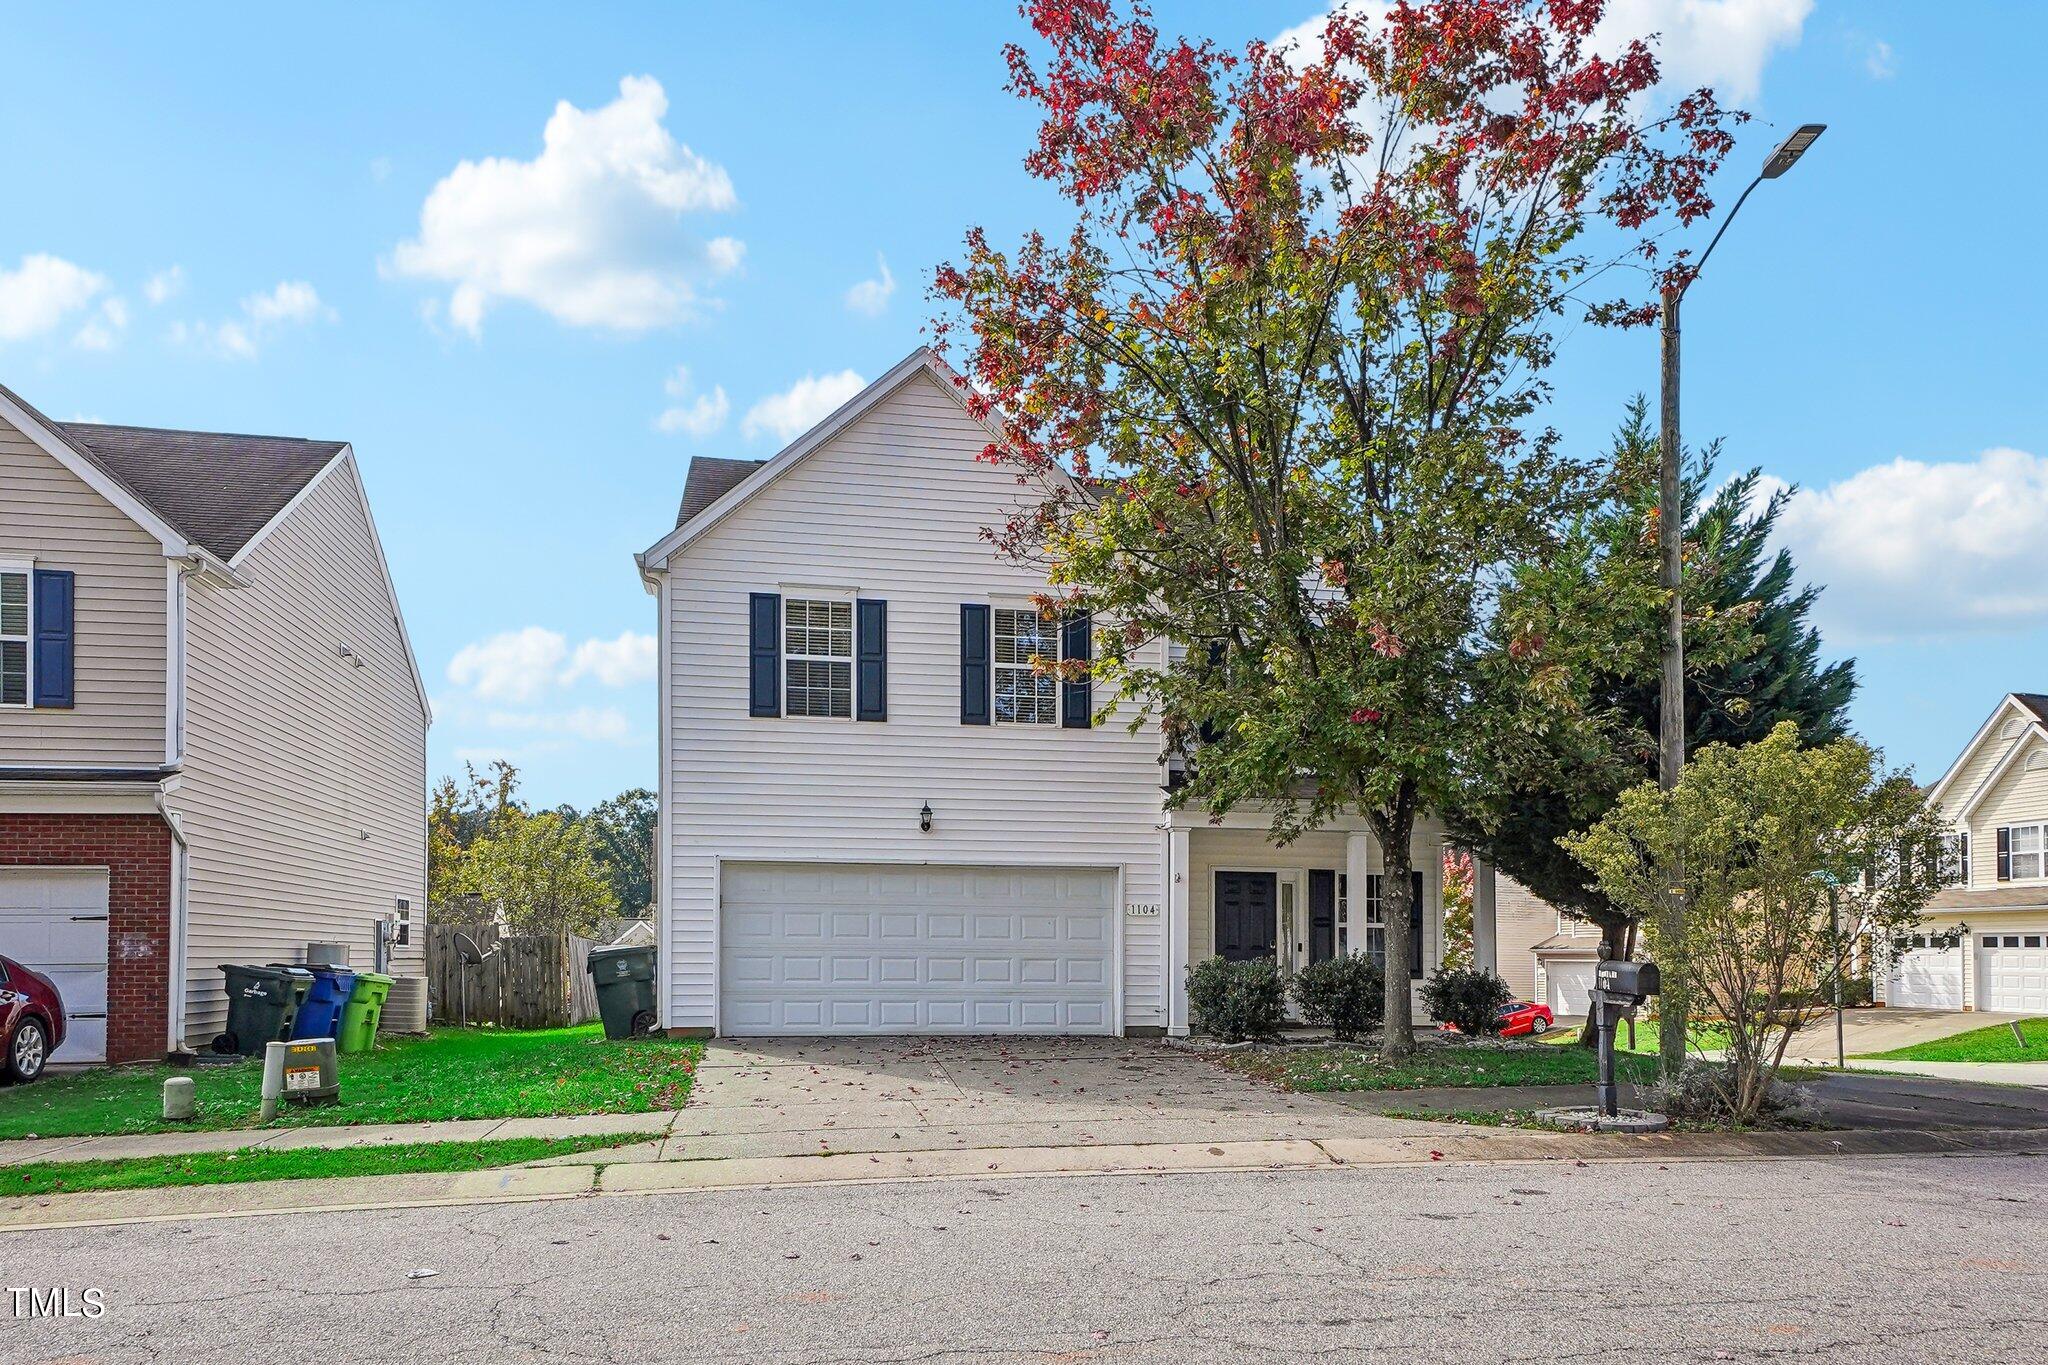
[[[961,724],[961,606],[1047,589],[981,536],[1032,497],[977,458],[987,444],[913,375],[670,561],[668,1025],[715,1025],[721,862],[1104,868],[1126,905],[1165,900],[1155,731],[1128,733],[1122,712],[1018,745]],[[889,604],[889,724],[750,718],[748,593],[764,583]],[[1124,1023],[1165,1021],[1163,923],[1122,921]]]

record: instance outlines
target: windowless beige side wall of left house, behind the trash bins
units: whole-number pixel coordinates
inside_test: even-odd
[[[186,606],[186,1040],[223,1017],[221,962],[295,962],[426,900],[426,716],[352,458]],[[354,667],[342,647],[362,661]],[[422,935],[393,972],[422,974]]]

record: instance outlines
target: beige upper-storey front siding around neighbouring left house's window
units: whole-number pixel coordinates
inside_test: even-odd
[[[6,420],[0,420],[0,559],[68,569],[78,593],[74,706],[0,706],[0,763],[160,765],[164,546]]]

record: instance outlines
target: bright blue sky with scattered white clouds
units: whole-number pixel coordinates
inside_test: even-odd
[[[1161,8],[1233,45],[1315,14]],[[1759,115],[1739,168],[1831,125],[1688,297],[1686,434],[1804,489],[1786,536],[1831,583],[1858,722],[1933,776],[1999,694],[2048,688],[2048,18],[1614,8]],[[506,755],[541,802],[653,782],[631,555],[690,456],[772,454],[901,358],[967,223],[1057,219],[1001,92],[1006,4],[4,4],[0,29],[0,381],[63,420],[354,442],[434,772]],[[1550,420],[1604,442],[1655,364],[1647,332],[1573,332]]]

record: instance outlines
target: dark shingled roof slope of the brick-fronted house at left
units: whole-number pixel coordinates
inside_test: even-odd
[[[346,442],[59,422],[57,430],[152,512],[231,561]]]

